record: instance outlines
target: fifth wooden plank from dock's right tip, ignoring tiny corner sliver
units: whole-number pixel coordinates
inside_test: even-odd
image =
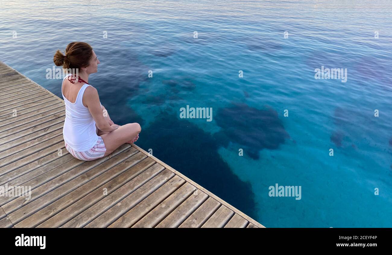
[[[196,190],[190,183],[183,184],[178,190],[171,194],[162,203],[158,204],[151,212],[147,213],[140,221],[136,222],[132,228],[154,228],[167,215],[177,208]]]

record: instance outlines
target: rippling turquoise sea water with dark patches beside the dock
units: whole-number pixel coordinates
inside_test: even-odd
[[[90,43],[101,64],[89,81],[113,121],[140,123],[139,146],[261,224],[392,227],[391,10],[390,1],[7,1],[0,60],[61,98],[61,80],[45,78],[54,52]],[[347,68],[347,82],[316,80],[321,66]],[[180,118],[187,105],[211,107],[212,121]],[[270,197],[276,183],[301,186],[301,199]]]

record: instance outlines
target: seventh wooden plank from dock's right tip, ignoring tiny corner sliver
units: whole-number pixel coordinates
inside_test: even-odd
[[[164,170],[161,174],[158,174],[136,191],[122,199],[119,203],[115,204],[109,210],[106,210],[104,213],[99,215],[99,217],[87,224],[85,228],[104,228],[109,226],[112,222],[116,221],[124,213],[131,210],[131,208],[133,208],[136,204],[143,201],[143,199],[148,197],[162,185],[168,183],[174,177],[175,175],[171,171]]]

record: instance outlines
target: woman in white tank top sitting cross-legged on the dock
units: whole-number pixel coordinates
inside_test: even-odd
[[[65,76],[62,95],[65,102],[63,136],[65,148],[77,159],[89,161],[111,154],[124,143],[134,143],[141,131],[138,123],[113,123],[100,103],[89,75],[97,72],[100,61],[88,43],[72,42],[54,54],[53,61],[64,69],[78,70]]]

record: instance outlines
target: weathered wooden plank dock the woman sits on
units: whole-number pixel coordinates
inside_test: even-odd
[[[263,228],[136,145],[74,158],[64,119],[63,99],[0,62],[0,227]]]

